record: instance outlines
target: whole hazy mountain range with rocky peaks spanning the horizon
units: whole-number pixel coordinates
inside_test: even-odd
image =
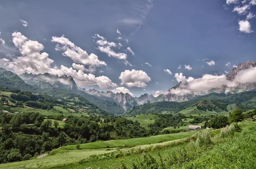
[[[246,63],[239,63],[237,67],[233,68],[232,71],[227,74],[226,79],[232,82],[237,74],[245,69],[251,67],[256,67],[254,61],[248,60]],[[239,93],[244,91],[250,91],[256,89],[255,83],[239,83],[236,87],[222,86],[221,88],[212,88],[208,92],[192,92],[183,95],[173,94],[171,91],[173,89],[183,89],[189,86],[189,82],[180,81],[176,86],[170,88],[168,94],[159,95],[154,97],[153,95],[144,94],[140,97],[132,97],[128,93],[113,93],[111,91],[99,92],[96,89],[81,89],[76,85],[75,80],[71,76],[62,75],[58,76],[56,74],[15,74],[13,72],[7,71],[6,69],[0,68],[0,86],[9,88],[18,88],[30,91],[30,92],[42,92],[49,89],[62,89],[70,93],[81,95],[87,98],[91,103],[96,106],[112,112],[116,115],[122,115],[126,110],[133,108],[134,106],[139,106],[145,103],[155,103],[162,101],[176,101],[183,102],[191,100],[195,97],[200,97],[202,95],[208,95],[210,93]]]

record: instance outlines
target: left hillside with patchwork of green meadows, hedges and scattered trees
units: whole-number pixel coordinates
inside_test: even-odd
[[[31,92],[23,92],[18,89],[6,89],[0,87],[0,109],[9,112],[39,112],[45,116],[61,115],[68,117],[73,115],[101,114],[109,115],[83,97],[65,99],[64,97],[53,98],[49,95],[35,95]]]

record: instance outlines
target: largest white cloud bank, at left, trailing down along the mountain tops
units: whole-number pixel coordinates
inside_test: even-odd
[[[54,60],[48,57],[49,54],[42,52],[44,50],[44,46],[41,43],[38,43],[38,41],[29,40],[20,32],[13,32],[12,37],[12,42],[20,51],[21,56],[13,57],[12,60],[6,58],[0,59],[0,64],[5,66],[6,69],[12,70],[17,74],[22,74],[24,72],[32,74],[47,72],[50,74],[58,74],[59,76],[66,74],[67,76],[72,76],[77,85],[80,87],[84,87],[86,85],[98,85],[101,89],[111,89],[113,87],[117,87],[116,83],[113,83],[106,76],[95,77],[93,74],[85,74],[81,69],[76,71],[72,67],[67,68],[63,65],[61,65],[60,68],[57,66],[51,68],[51,64],[54,62]],[[67,46],[74,47],[73,43],[67,40],[61,41],[60,43],[67,42],[70,43],[67,44]],[[77,69],[79,64],[73,64],[73,67],[76,67]],[[82,68],[81,65],[80,68]]]

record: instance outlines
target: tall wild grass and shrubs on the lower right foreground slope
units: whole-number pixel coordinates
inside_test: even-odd
[[[236,126],[230,125],[221,130],[213,139],[208,130],[198,133],[197,140],[188,147],[174,151],[162,159],[143,154],[143,160],[122,164],[117,169],[201,169],[201,168],[256,168],[256,123],[244,122],[246,128],[236,134]],[[241,131],[241,126],[239,126]],[[239,131],[239,130],[238,130]],[[233,137],[229,137],[233,136]],[[215,143],[215,144],[214,144]],[[210,146],[211,145],[211,146]]]

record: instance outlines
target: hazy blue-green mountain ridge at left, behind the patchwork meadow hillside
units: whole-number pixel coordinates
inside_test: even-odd
[[[23,78],[25,83],[20,77]],[[85,97],[88,102],[91,102],[99,108],[115,115],[121,115],[125,112],[122,106],[109,100],[101,100],[93,95],[77,89],[76,83],[72,77],[65,75],[58,76],[52,74],[20,74],[20,77],[6,69],[0,68],[0,86],[9,87],[10,89],[19,89],[32,93],[41,93],[58,97]],[[47,80],[46,80],[47,79]]]

